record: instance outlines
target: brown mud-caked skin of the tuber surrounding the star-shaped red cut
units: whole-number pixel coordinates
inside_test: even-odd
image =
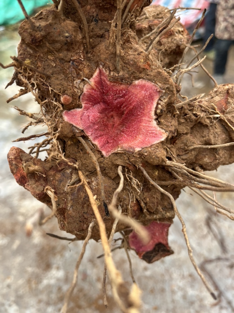
[[[59,227],[75,234],[78,239],[86,237],[95,216],[85,187],[79,185],[77,169],[84,173],[95,195],[109,234],[114,218],[106,208],[119,184],[119,166],[123,167],[124,188],[119,193],[117,207],[120,205],[122,213],[147,226],[154,221],[170,224],[175,212],[170,198],[155,189],[139,166],[176,199],[183,187],[188,184],[194,187],[195,182],[183,171],[179,172],[173,162],[194,171],[202,171],[213,170],[234,161],[233,146],[191,149],[191,146],[233,141],[233,85],[215,87],[206,98],[180,105],[180,88],[165,68],[178,63],[188,43],[188,33],[177,22],[149,52],[147,46],[153,37],[141,39],[170,16],[162,7],[152,6],[143,10],[150,2],[133,1],[129,7],[129,1],[126,1],[120,12],[121,28],[119,15],[115,14],[115,1],[108,0],[105,4],[103,1],[89,1],[87,4],[80,0],[79,7],[83,12],[80,14],[73,2],[66,0],[62,10],[52,5],[33,17],[35,30],[31,29],[27,21],[19,29],[21,42],[18,56],[14,58],[15,74],[11,83],[16,80],[17,85],[22,87],[21,94],[34,92],[42,113],[39,119],[34,119],[34,123],[45,122],[48,135],[41,145],[36,144],[31,149],[31,153],[36,152],[36,157],[13,147],[8,154],[9,165],[16,181],[51,208],[51,198],[45,188],[49,186],[54,191]],[[138,17],[139,22],[136,22]],[[160,97],[155,103],[152,120],[166,133],[164,138],[139,151],[122,148],[104,156],[84,130],[64,121],[62,113],[65,110],[81,109],[86,85],[95,88],[92,77],[98,68],[105,71],[110,83],[119,86],[130,86],[140,80],[157,86]],[[106,99],[109,90],[100,90]],[[117,99],[116,94],[114,97]],[[135,97],[140,101],[137,93]],[[97,109],[92,116],[95,121],[99,119],[97,128],[92,129],[92,132],[102,127],[101,114],[105,116],[105,111]],[[144,116],[136,116],[139,125],[143,125],[142,119]],[[121,123],[121,118],[118,123]],[[148,133],[148,136],[152,135]],[[95,162],[79,137],[85,140],[99,164],[105,199]],[[44,161],[37,158],[43,148],[48,153]],[[180,179],[171,171],[173,166]],[[118,223],[116,231],[125,228],[126,225]],[[97,225],[93,228],[91,238],[100,239]],[[162,249],[154,253],[163,257],[172,253],[169,246],[167,249],[165,253],[162,253]],[[159,258],[148,259],[151,262]]]

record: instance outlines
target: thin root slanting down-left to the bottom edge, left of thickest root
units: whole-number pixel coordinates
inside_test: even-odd
[[[69,289],[67,290],[66,292],[66,295],[64,297],[64,304],[63,304],[63,307],[61,309],[61,313],[66,313],[67,312],[67,306],[68,306],[68,303],[69,303],[69,300],[71,298],[71,295],[72,295],[72,292],[76,286],[76,282],[77,282],[77,277],[78,277],[78,270],[79,270],[79,267],[80,267],[80,263],[83,259],[83,256],[85,254],[85,249],[86,249],[86,246],[89,242],[89,239],[91,237],[91,234],[92,234],[92,229],[95,225],[95,221],[91,222],[90,225],[89,225],[89,229],[88,229],[88,234],[84,240],[84,243],[83,243],[83,246],[82,246],[82,249],[81,249],[81,252],[80,252],[80,255],[79,255],[79,258],[76,262],[76,267],[75,267],[75,270],[74,270],[74,274],[73,274],[73,280],[71,282],[71,285],[69,287]]]

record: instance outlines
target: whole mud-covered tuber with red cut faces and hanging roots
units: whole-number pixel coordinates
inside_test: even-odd
[[[214,81],[207,96],[180,95],[183,74],[197,66],[210,74],[176,9],[148,7],[150,0],[53,2],[33,18],[25,13],[18,55],[1,66],[15,69],[7,86],[21,87],[8,103],[31,92],[39,106],[38,114],[15,107],[31,119],[22,133],[47,126],[45,133],[16,140],[44,138],[28,153],[11,148],[11,172],[51,208],[49,216],[39,214],[41,224],[56,216],[61,230],[85,239],[61,312],[67,311],[89,239],[101,239],[104,249],[105,306],[107,273],[121,310],[138,312],[141,291],[132,271],[129,287],[116,269],[113,235],[123,237],[130,265],[128,249],[152,263],[173,253],[168,229],[175,215],[189,258],[215,299],[193,259],[175,200],[188,186],[234,219],[234,211],[215,197],[234,186],[203,173],[234,162],[233,85]],[[188,49],[195,57],[184,68]],[[44,161],[41,151],[48,155]]]

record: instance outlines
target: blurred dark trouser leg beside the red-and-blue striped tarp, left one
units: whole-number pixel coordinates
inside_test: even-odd
[[[210,3],[209,9],[205,15],[205,33],[203,37],[203,44],[206,43],[207,39],[211,34],[215,33],[215,12],[216,12],[216,3]],[[205,51],[210,51],[213,49],[215,43],[215,37],[213,36],[209,43],[206,46]]]

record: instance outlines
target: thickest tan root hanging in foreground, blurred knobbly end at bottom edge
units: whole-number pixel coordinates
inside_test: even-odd
[[[108,272],[108,275],[110,278],[110,284],[111,284],[114,299],[118,303],[120,309],[123,312],[130,313],[131,312],[130,310],[135,309],[134,312],[137,313],[137,312],[139,312],[138,307],[139,307],[140,291],[139,291],[138,287],[134,284],[132,287],[132,291],[130,293],[127,291],[125,292],[125,295],[127,296],[127,298],[132,300],[132,303],[131,303],[132,305],[129,306],[128,308],[126,308],[123,301],[119,297],[119,291],[124,286],[124,281],[122,280],[120,272],[116,269],[114,261],[113,261],[112,256],[111,256],[110,246],[109,246],[109,242],[108,242],[108,239],[106,236],[105,223],[101,217],[101,214],[98,210],[97,204],[96,204],[94,196],[92,194],[92,191],[91,191],[84,175],[82,174],[81,171],[78,171],[78,174],[80,176],[81,182],[84,184],[85,190],[86,190],[88,197],[89,197],[89,200],[90,200],[91,207],[92,207],[94,214],[95,214],[95,217],[97,219],[97,223],[98,223],[99,231],[100,231],[101,242],[102,242],[102,246],[103,246],[104,253],[105,253],[106,268],[107,268],[107,272]],[[132,293],[134,293],[134,295],[138,295],[138,298],[136,297],[135,301],[133,301]]]

